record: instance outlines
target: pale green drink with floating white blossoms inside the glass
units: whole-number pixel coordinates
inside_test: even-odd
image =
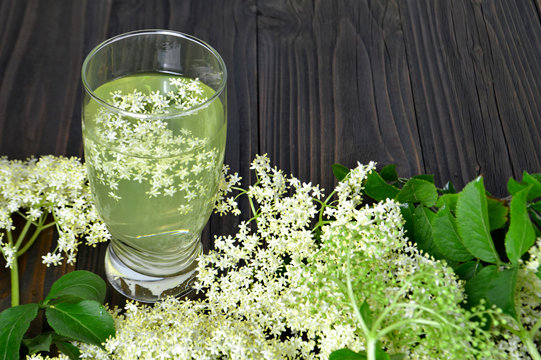
[[[199,255],[215,202],[222,103],[206,101],[214,90],[197,79],[164,73],[119,78],[95,94],[114,107],[85,102],[85,162],[113,249],[143,274],[177,274]]]

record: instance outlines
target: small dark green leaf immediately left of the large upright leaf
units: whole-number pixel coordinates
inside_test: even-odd
[[[432,235],[434,243],[446,258],[460,262],[473,258],[458,235],[455,218],[448,207],[440,209],[432,220]]]

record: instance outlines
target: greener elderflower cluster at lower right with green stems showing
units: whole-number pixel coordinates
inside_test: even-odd
[[[305,274],[314,311],[336,306],[340,313],[329,320],[360,329],[356,335],[364,339],[331,349],[366,350],[371,332],[389,354],[407,359],[497,359],[488,333],[460,306],[463,286],[452,269],[405,238],[400,205],[386,200],[360,206],[361,179],[373,169],[359,166],[339,185],[338,204],[326,211],[334,221],[323,228],[321,249]],[[362,304],[372,319],[364,319],[364,331],[352,315]]]

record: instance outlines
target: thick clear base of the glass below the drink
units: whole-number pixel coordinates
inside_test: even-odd
[[[186,296],[193,291],[197,261],[179,274],[167,277],[148,276],[134,271],[120,261],[111,244],[105,254],[105,274],[116,291],[127,298],[152,303],[169,296]]]

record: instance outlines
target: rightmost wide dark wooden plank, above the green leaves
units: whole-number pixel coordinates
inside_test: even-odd
[[[539,134],[533,3],[399,4],[426,171],[458,187],[483,174],[499,195],[508,177],[539,171],[540,137],[526,136]]]

